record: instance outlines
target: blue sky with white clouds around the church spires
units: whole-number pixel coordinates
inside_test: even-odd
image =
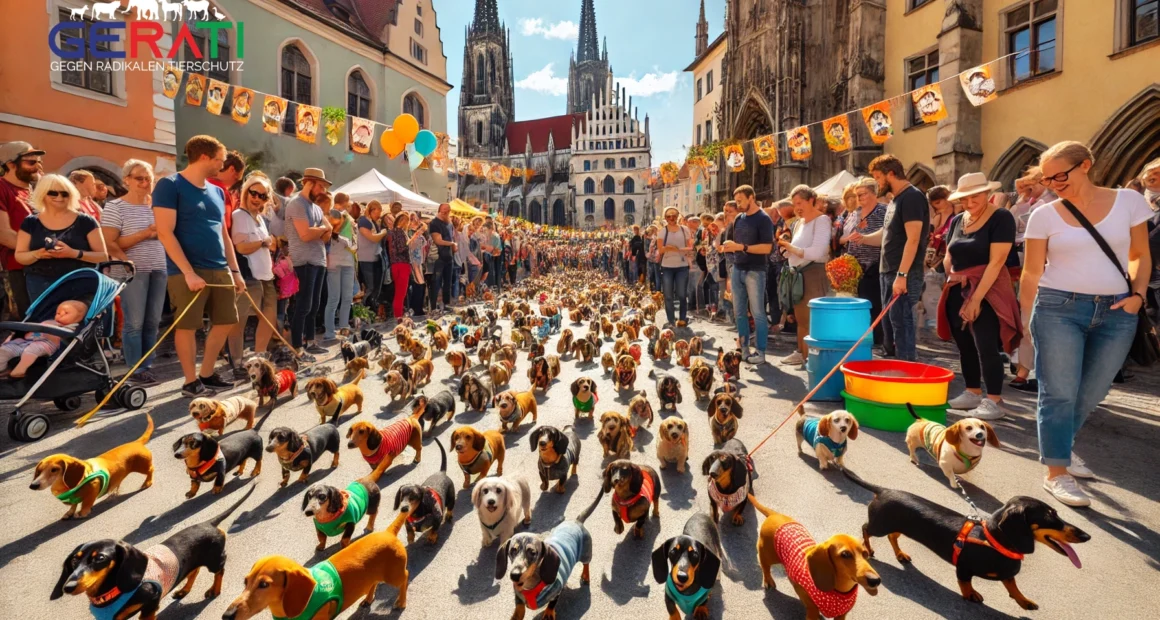
[[[447,127],[459,127],[459,84],[464,28],[474,0],[433,0],[447,55]],[[512,33],[517,121],[565,114],[568,56],[575,50],[580,0],[498,0],[500,21]],[[640,121],[650,117],[652,157],[659,165],[681,161],[693,142],[693,77],[699,0],[595,0],[596,34],[608,37],[615,79],[632,95]],[[725,0],[706,0],[709,41],[725,23]]]

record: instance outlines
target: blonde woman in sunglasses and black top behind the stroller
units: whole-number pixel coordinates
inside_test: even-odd
[[[80,192],[59,175],[45,174],[32,190],[35,214],[16,233],[16,261],[24,266],[28,298],[36,300],[65,274],[104,262],[104,237],[90,216],[80,212]]]

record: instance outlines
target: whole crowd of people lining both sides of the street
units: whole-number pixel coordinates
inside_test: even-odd
[[[140,384],[158,381],[142,360],[167,310],[180,316],[182,392],[196,397],[242,377],[246,325],[258,315],[254,353],[284,339],[309,362],[360,320],[390,329],[403,317],[437,317],[557,268],[661,291],[666,327],[731,324],[752,365],[766,363],[770,331],[796,334],[781,363],[800,366],[810,301],[831,295],[826,264],[850,254],[862,269],[857,296],[872,316],[889,308],[873,331],[880,355],[918,360],[928,326],[957,347],[965,389],[951,409],[994,420],[1005,414],[1005,387],[1037,392],[1044,486],[1070,505],[1089,503],[1075,477],[1092,476],[1073,452],[1075,434],[1160,287],[1160,160],[1134,187],[1102,188],[1088,176],[1090,151],[1071,142],[1045,151],[1013,193],[981,173],[922,192],[885,154],[841,196],[798,186],[763,204],[740,186],[720,212],[666,207],[657,222],[595,238],[461,217],[445,203],[429,216],[357,202],[332,193],[321,168],[273,179],[210,136],[189,139],[187,166],[165,178],[125,161],[126,192],[116,197],[86,171],[44,174],[43,156],[23,142],[0,145],[0,309],[20,319],[68,272],[132,262],[119,343],[126,363],[142,362],[132,377]],[[234,377],[215,373],[223,349]]]

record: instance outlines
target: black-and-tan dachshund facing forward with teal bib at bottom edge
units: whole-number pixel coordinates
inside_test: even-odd
[[[665,607],[670,619],[680,620],[690,614],[694,620],[709,619],[709,593],[717,583],[722,557],[725,554],[717,524],[703,512],[684,521],[680,536],[657,547],[653,578],[665,584]]]

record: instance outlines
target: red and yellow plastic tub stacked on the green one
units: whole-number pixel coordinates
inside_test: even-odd
[[[842,365],[846,391],[889,405],[938,406],[955,373],[928,363],[901,360],[851,361]]]

